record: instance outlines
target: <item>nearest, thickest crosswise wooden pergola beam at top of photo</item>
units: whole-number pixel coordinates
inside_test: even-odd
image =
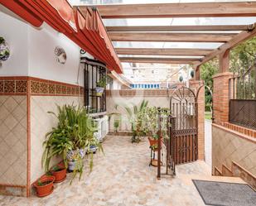
[[[192,2],[94,5],[102,18],[255,17],[256,2]],[[80,6],[83,11],[84,7]]]

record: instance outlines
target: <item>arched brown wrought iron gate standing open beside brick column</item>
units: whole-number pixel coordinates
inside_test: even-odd
[[[198,158],[196,94],[189,88],[171,94],[170,159],[175,165]]]

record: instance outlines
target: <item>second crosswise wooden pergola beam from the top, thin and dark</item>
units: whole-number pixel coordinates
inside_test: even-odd
[[[107,31],[248,31],[251,25],[106,26]]]

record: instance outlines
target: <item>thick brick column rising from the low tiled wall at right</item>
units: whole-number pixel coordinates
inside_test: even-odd
[[[229,79],[233,76],[231,72],[213,76],[213,118],[214,123],[222,126],[229,121]]]

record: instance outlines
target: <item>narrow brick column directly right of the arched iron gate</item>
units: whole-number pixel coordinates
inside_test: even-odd
[[[205,87],[203,81],[190,82],[191,89],[195,89],[197,96],[197,124],[198,124],[198,160],[205,160]]]

